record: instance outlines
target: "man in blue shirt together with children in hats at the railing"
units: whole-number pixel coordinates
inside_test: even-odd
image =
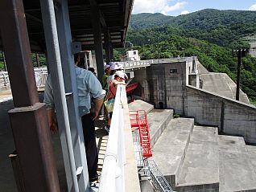
[[[97,76],[92,71],[77,67],[80,62],[80,55],[74,55],[76,85],[79,102],[79,112],[85,138],[85,152],[89,172],[89,182],[95,182],[97,176],[97,145],[95,136],[94,121],[97,118],[104,100],[109,100],[115,97],[118,84],[125,84],[127,78],[123,68],[118,63],[109,62],[105,64],[105,74],[102,77],[103,84],[97,80]],[[47,108],[48,124],[52,133],[56,133],[58,128],[56,121],[53,118],[55,113],[55,101],[53,96],[54,89],[52,88],[51,74],[47,77],[44,90],[44,103]],[[92,108],[93,103],[93,108]],[[105,129],[109,131],[112,112],[105,110],[105,119],[107,125]]]

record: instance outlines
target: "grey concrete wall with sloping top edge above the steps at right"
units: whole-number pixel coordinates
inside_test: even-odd
[[[256,143],[254,106],[192,86],[187,86],[186,90],[186,116],[195,117],[195,121],[203,125],[218,126],[222,133],[242,136],[246,142]]]

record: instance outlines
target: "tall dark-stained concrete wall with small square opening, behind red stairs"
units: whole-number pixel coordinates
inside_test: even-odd
[[[185,62],[155,63],[151,67],[134,71],[134,82],[142,85],[147,102],[159,108],[175,108],[175,112],[184,112],[184,92],[188,77]]]

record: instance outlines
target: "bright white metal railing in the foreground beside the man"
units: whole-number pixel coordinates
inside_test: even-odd
[[[123,85],[118,85],[109,139],[101,171],[99,192],[125,191],[124,165],[126,163],[126,153],[123,132],[123,98],[125,96],[126,88]]]

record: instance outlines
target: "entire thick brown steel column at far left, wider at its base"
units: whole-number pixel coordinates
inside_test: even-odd
[[[44,104],[39,103],[35,86],[23,1],[1,0],[0,23],[14,98],[10,125],[23,186],[26,192],[59,192],[47,113]]]

